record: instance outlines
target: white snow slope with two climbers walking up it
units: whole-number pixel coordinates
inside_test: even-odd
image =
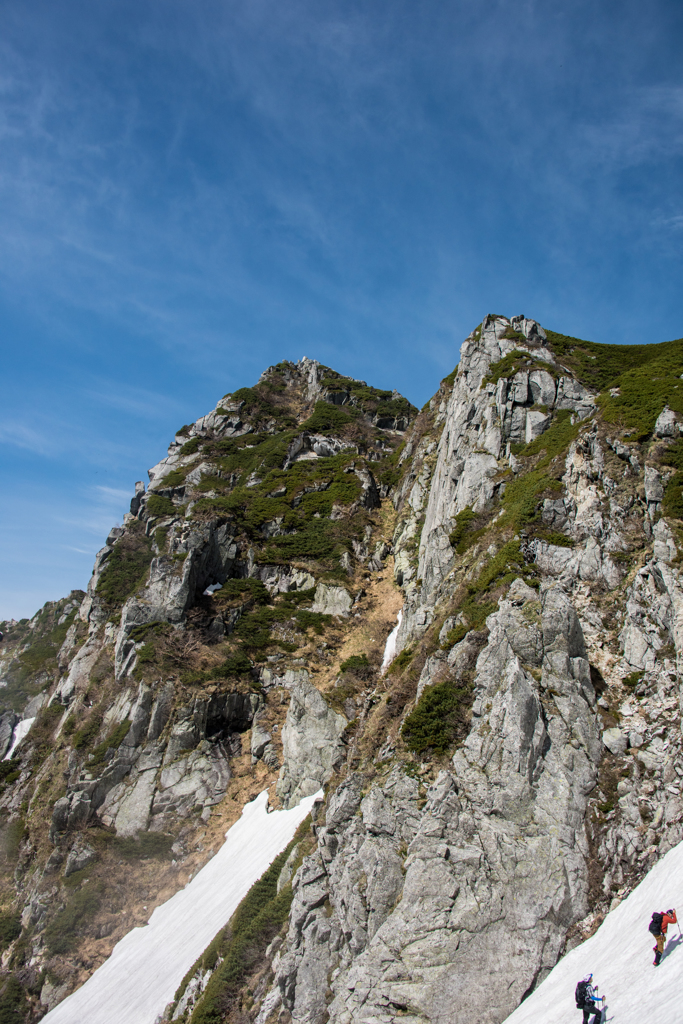
[[[505,1024],[581,1024],[577,982],[593,973],[605,995],[603,1020],[615,1024],[680,1024],[683,939],[670,925],[659,967],[647,931],[652,913],[678,907],[683,918],[683,843],[670,850],[582,945],[563,956]],[[592,1020],[593,1018],[591,1018]]]

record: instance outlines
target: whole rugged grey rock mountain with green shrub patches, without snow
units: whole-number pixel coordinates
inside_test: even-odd
[[[305,359],[183,427],[42,675],[6,631],[25,1017],[130,927],[121,880],[146,910],[245,799],[325,784],[282,929],[167,1019],[503,1021],[683,839],[682,375],[681,342],[486,316],[419,414]]]

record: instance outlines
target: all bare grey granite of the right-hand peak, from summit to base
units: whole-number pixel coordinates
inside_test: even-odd
[[[497,377],[513,352],[528,369]],[[392,495],[398,649],[436,620],[416,699],[446,677],[471,682],[468,732],[435,778],[396,763],[392,742],[329,794],[259,1024],[275,1012],[295,1024],[500,1024],[683,840],[683,589],[656,450],[607,432],[595,395],[525,317],[484,318],[429,411]],[[484,627],[443,617],[501,549],[492,524],[520,471],[514,452],[541,443],[558,411],[571,439],[539,526],[513,539],[523,561]],[[665,410],[653,435],[678,437],[676,416]],[[459,559],[466,510],[489,540],[482,530]]]

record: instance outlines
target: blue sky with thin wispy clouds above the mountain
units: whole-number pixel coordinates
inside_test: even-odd
[[[422,404],[487,311],[683,335],[683,5],[0,3],[0,618],[308,355]]]

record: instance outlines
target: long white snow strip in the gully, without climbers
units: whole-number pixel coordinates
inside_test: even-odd
[[[46,1024],[154,1024],[185,974],[253,884],[285,849],[321,794],[266,812],[267,792],[247,804],[196,878],[134,928],[85,985],[43,1017]]]

